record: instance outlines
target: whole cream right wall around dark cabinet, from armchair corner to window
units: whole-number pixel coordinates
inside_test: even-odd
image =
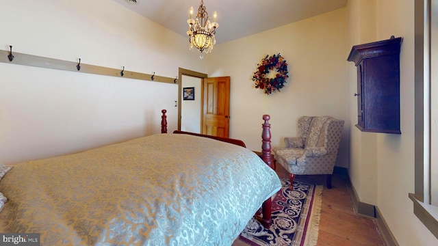
[[[351,128],[350,178],[361,202],[378,206],[400,245],[438,245],[413,214],[414,193],[414,1],[349,0],[349,42],[361,44],[402,37],[400,52],[401,135],[360,133]],[[375,31],[372,31],[372,30]],[[355,68],[348,70],[356,87]],[[350,89],[350,92],[353,91]],[[351,98],[350,105],[357,105]],[[357,121],[350,109],[350,124]],[[371,161],[370,161],[371,159]]]

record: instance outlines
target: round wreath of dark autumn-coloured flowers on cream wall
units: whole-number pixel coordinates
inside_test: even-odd
[[[266,74],[270,70],[276,69],[276,76],[273,79],[266,78]],[[254,72],[253,81],[255,81],[255,87],[261,90],[265,90],[266,94],[271,94],[285,86],[286,79],[289,77],[287,75],[287,62],[280,55],[266,55],[265,58],[261,59],[261,64],[257,64],[257,70]]]

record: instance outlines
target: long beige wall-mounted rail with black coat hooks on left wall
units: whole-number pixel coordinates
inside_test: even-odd
[[[12,57],[12,61],[10,61],[10,57]],[[15,53],[12,51],[12,47],[10,51],[0,50],[0,62],[7,64],[19,64],[24,66],[35,66],[39,68],[50,68],[57,70],[65,70],[70,72],[85,72],[89,74],[99,74],[106,75],[112,77],[121,77],[126,79],[141,79],[144,81],[154,81],[154,82],[163,82],[163,83],[175,83],[175,78],[170,77],[162,77],[153,74],[144,74],[141,72],[131,72],[123,69],[115,69],[115,68],[105,68],[101,66],[94,66],[89,64],[81,63],[80,59],[77,62],[74,61],[64,61],[60,59],[53,59],[48,57],[40,57],[36,55],[27,55],[23,53]]]

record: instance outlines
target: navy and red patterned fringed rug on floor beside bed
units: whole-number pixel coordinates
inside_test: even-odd
[[[240,234],[240,241],[251,245],[316,245],[322,204],[322,186],[280,178],[281,190],[272,200],[269,230],[253,217]]]

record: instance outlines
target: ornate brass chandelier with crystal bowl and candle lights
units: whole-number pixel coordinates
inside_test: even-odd
[[[203,59],[203,53],[209,53],[214,44],[216,44],[216,28],[219,24],[216,23],[217,13],[213,14],[213,22],[210,22],[207,10],[204,6],[203,0],[201,0],[201,5],[198,8],[198,14],[196,14],[196,19],[193,18],[193,7],[190,8],[190,18],[187,20],[189,25],[189,30],[187,35],[189,36],[190,50],[193,48],[198,49],[201,52],[199,58]]]

